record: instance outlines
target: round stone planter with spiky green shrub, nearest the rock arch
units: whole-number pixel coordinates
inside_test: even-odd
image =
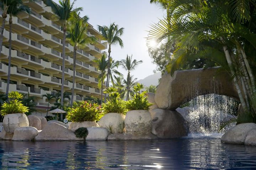
[[[143,85],[137,84],[134,87],[136,94],[132,97],[132,100],[126,102],[126,118],[124,125],[128,134],[148,134],[151,128],[151,115],[149,113],[149,107],[152,106],[148,102],[145,92],[140,93],[143,89]]]

